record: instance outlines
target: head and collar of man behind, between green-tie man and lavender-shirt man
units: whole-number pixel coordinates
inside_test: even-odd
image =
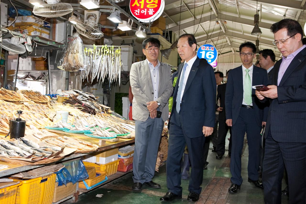
[[[275,64],[275,54],[271,49],[263,49],[259,51],[259,65],[261,68],[267,70],[268,76],[272,75],[272,69]]]

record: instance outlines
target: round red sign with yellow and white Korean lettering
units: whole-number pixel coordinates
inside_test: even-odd
[[[148,23],[158,19],[164,10],[165,0],[131,0],[130,10],[139,21]]]

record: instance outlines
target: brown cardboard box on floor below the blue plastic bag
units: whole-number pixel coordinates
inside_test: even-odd
[[[55,182],[54,194],[52,202],[58,202],[63,198],[68,197],[76,193],[76,183],[72,184],[71,182],[67,183],[67,186],[62,185],[58,186],[58,182]]]

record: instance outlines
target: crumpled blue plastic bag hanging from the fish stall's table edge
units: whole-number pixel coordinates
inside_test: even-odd
[[[69,182],[75,184],[78,181],[82,181],[88,178],[88,173],[81,160],[65,162],[63,165],[65,165],[65,168],[55,172],[58,186],[62,186],[63,184],[66,186],[66,184]]]

